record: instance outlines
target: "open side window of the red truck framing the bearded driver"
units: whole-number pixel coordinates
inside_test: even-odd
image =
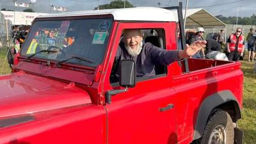
[[[136,62],[138,81],[166,74],[166,66],[154,63],[154,60],[150,60],[151,58],[146,52],[147,47],[150,47],[151,44],[158,49],[165,49],[163,37],[163,29],[124,29],[111,70],[109,79],[111,84],[118,85],[116,82],[119,81],[120,76],[120,61],[124,59]]]

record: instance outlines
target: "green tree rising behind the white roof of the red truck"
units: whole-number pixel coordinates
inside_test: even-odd
[[[117,1],[111,1],[109,4],[102,4],[100,5],[100,10],[104,10],[104,9],[112,9],[112,8],[133,8],[134,6],[132,6],[131,3],[129,3],[129,1],[124,1],[122,0],[117,0]],[[94,10],[98,10],[98,6],[94,8]]]

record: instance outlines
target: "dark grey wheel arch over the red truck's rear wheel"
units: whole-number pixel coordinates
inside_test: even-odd
[[[230,109],[231,108],[231,109]],[[193,140],[201,138],[205,124],[213,109],[223,109],[229,113],[233,122],[241,118],[241,110],[236,97],[229,90],[214,93],[206,97],[198,110]]]

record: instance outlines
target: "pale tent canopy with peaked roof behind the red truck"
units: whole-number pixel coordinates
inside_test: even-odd
[[[178,21],[177,10],[172,10],[175,15],[175,20]],[[185,10],[182,10],[183,18]],[[211,13],[207,12],[203,8],[188,9],[186,12],[186,28],[188,27],[225,27],[225,24],[221,20],[217,19]]]

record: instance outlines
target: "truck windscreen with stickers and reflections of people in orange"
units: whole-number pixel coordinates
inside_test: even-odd
[[[21,56],[74,65],[96,66],[102,62],[108,45],[112,19],[36,21],[20,52]],[[40,52],[49,50],[54,52]],[[72,57],[79,57],[72,58]]]

